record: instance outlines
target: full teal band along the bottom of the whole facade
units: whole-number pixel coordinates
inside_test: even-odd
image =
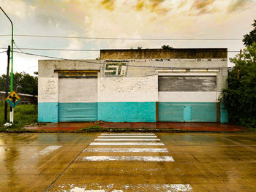
[[[217,122],[216,103],[159,102],[159,121]],[[39,122],[156,122],[155,102],[39,103]],[[228,122],[221,104],[221,122]]]

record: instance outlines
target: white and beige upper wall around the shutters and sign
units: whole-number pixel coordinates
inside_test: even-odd
[[[127,64],[126,77],[105,77],[104,74],[102,74],[105,66],[104,63],[105,61],[96,60],[86,60],[83,62],[40,60],[38,74],[39,102],[77,101],[72,100],[72,94],[69,95],[67,93],[66,96],[59,96],[59,74],[54,72],[55,70],[100,70],[101,75],[98,76],[97,80],[97,96],[92,94],[82,99],[88,102],[158,101],[158,75],[160,74],[158,74],[156,69],[185,69],[184,73],[189,72],[187,69],[219,69],[218,72],[214,72],[217,76],[217,93],[227,86],[227,59],[126,60],[124,61],[124,63]],[[69,82],[63,83],[63,85],[60,86],[66,85],[67,88],[69,86],[73,88],[72,83],[69,84]],[[164,95],[162,96],[165,97]],[[180,96],[177,95],[177,98],[178,97]],[[207,98],[208,99],[205,100],[213,101],[214,93],[209,93]]]

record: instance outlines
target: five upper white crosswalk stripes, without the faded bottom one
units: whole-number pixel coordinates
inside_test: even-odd
[[[146,139],[144,138],[146,137]],[[172,156],[151,156],[136,155],[131,156],[128,153],[168,153],[167,148],[148,148],[148,146],[164,146],[155,134],[101,134],[90,146],[113,146],[105,148],[89,148],[87,152],[100,153],[127,153],[127,155],[99,155],[86,156],[82,161],[156,161],[156,162],[173,162]],[[136,142],[135,142],[136,141]],[[147,146],[143,148],[116,148],[116,146]]]

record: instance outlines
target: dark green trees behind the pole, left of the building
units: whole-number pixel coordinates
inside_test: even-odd
[[[0,77],[0,91],[5,91],[5,80],[6,74],[2,74]],[[8,91],[10,91],[10,77],[8,85]],[[26,72],[16,72],[13,74],[13,90],[17,91],[18,93],[37,95],[37,85],[37,77],[31,76]]]

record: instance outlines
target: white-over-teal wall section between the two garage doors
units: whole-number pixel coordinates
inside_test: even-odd
[[[155,122],[157,75],[101,77],[98,80],[99,120]]]

